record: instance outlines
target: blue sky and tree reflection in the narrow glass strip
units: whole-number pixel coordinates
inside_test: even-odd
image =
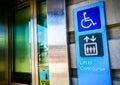
[[[39,66],[48,66],[47,28],[38,25],[38,62]]]

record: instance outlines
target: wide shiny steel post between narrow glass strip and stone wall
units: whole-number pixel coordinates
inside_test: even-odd
[[[46,1],[50,85],[70,85],[66,1]]]

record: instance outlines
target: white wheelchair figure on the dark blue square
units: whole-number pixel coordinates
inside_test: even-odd
[[[96,25],[97,23],[93,22],[93,20],[90,17],[86,17],[86,14],[87,14],[86,12],[83,12],[84,18],[81,20],[81,26],[83,28],[90,28],[91,26]],[[84,23],[86,22],[90,22],[90,23],[87,26],[85,26]]]

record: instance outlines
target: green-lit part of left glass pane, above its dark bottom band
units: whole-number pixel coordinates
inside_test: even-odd
[[[29,18],[29,7],[19,10],[15,14],[15,72],[31,72]]]

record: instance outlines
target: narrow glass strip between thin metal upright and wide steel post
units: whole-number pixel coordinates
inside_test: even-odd
[[[49,85],[46,1],[37,2],[39,85]]]

